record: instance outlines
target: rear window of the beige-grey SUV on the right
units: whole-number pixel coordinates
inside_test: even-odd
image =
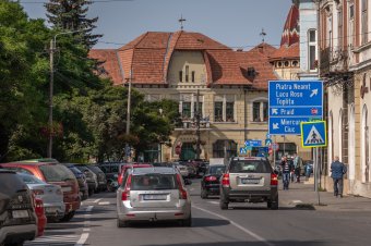
[[[234,160],[230,163],[231,173],[271,173],[272,168],[263,160]]]

